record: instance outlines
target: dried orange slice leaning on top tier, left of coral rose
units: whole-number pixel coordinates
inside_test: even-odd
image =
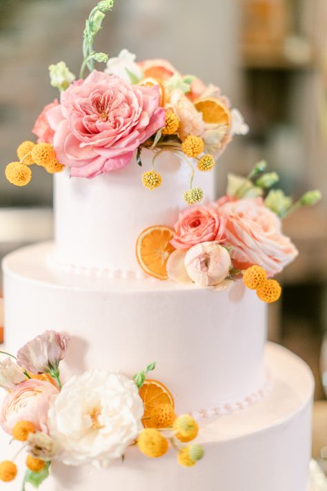
[[[137,239],[136,253],[139,265],[146,273],[166,280],[166,264],[174,247],[170,244],[174,231],[165,225],[149,227]]]

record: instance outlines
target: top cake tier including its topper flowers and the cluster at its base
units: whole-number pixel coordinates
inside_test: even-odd
[[[6,177],[24,186],[33,164],[58,174],[57,263],[110,276],[143,269],[203,286],[255,266],[249,287],[276,300],[280,287],[267,276],[297,255],[280,218],[317,202],[319,191],[297,202],[269,191],[279,177],[259,162],[245,179],[230,176],[226,195],[214,202],[208,171],[248,126],[217,86],[169,61],[96,52],[95,36],[112,5],[99,1],[90,12],[79,78],[63,61],[49,67],[60,100],[43,109],[33,128],[37,144],[17,148],[19,162],[8,164]],[[106,63],[104,70],[95,62]]]

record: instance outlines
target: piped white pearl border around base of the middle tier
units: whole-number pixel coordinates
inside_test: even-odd
[[[235,412],[242,411],[247,407],[260,401],[262,398],[266,397],[273,387],[273,379],[271,378],[269,372],[266,372],[266,382],[261,389],[256,392],[252,392],[249,396],[246,396],[241,401],[236,401],[234,403],[221,403],[212,409],[204,409],[200,411],[192,412],[192,416],[199,420],[201,418],[217,418],[220,416],[230,416]]]

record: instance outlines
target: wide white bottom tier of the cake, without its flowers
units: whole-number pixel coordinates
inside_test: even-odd
[[[40,491],[308,491],[313,376],[297,356],[271,343],[266,364],[266,397],[229,416],[201,418],[198,441],[206,454],[194,467],[179,466],[173,449],[147,459],[133,447],[106,470],[53,463]],[[0,460],[14,454],[9,441],[1,435]],[[17,491],[19,483],[6,489]]]

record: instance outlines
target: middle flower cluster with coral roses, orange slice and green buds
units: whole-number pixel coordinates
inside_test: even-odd
[[[202,287],[224,289],[243,277],[264,302],[275,302],[281,287],[273,279],[298,251],[281,230],[281,219],[301,206],[316,204],[319,191],[293,201],[281,189],[270,189],[279,176],[258,162],[248,177],[228,175],[226,195],[216,202],[179,213],[173,229],[154,226],[137,239],[143,271]]]

